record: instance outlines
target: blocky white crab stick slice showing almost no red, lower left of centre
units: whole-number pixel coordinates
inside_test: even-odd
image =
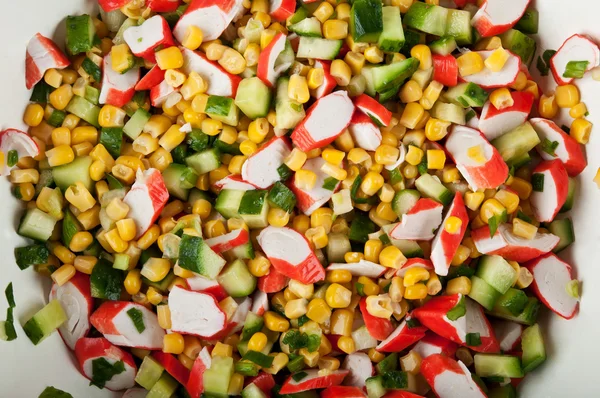
[[[169,293],[169,308],[174,332],[210,339],[227,325],[227,314],[211,294],[175,286]]]

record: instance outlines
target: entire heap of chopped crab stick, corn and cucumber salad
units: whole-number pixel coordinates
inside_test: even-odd
[[[99,3],[0,134],[34,344],[131,398],[515,396],[578,309],[595,43],[536,59],[529,0]]]

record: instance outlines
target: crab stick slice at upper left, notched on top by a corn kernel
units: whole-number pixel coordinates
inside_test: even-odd
[[[140,80],[140,68],[132,68],[122,74],[115,72],[112,68],[112,54],[108,54],[104,57],[102,69],[102,89],[98,102],[118,108],[125,106],[135,94],[135,86]]]

